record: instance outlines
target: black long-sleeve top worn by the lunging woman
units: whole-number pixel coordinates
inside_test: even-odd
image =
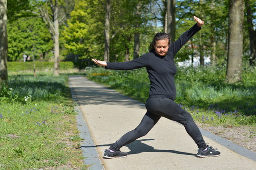
[[[176,97],[174,75],[176,66],[174,55],[182,46],[199,30],[197,24],[183,33],[178,40],[170,44],[166,56],[159,56],[154,52],[143,54],[137,59],[127,62],[107,62],[106,69],[130,70],[146,67],[148,78],[150,79],[149,97]]]

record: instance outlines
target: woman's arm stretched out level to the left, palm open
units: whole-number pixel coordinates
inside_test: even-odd
[[[92,59],[92,61],[98,66],[105,66],[106,69],[131,70],[148,66],[150,58],[149,53],[146,53],[137,59],[126,62],[106,62],[97,59]]]

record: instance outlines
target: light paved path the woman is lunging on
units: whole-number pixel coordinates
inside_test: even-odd
[[[137,127],[146,112],[145,106],[82,76],[70,76],[69,81],[94,141],[92,145],[82,144],[82,148],[96,148],[105,170],[256,170],[256,161],[206,136],[206,143],[218,148],[221,155],[195,157],[197,145],[184,127],[165,118],[146,136],[121,148],[128,152],[127,158],[103,159],[110,144]]]

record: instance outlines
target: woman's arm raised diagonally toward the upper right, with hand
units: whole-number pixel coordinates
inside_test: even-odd
[[[201,30],[201,26],[204,25],[204,21],[202,21],[200,18],[194,16],[194,20],[197,23],[192,26],[188,31],[183,33],[178,40],[170,45],[169,50],[173,53],[173,55],[175,55],[194,34]]]

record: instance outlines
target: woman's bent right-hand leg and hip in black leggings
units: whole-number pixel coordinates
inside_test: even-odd
[[[183,124],[187,133],[192,137],[199,148],[205,149],[207,147],[191,114],[183,110],[173,100],[168,98],[149,98],[146,102],[146,108],[155,115],[163,116]]]

